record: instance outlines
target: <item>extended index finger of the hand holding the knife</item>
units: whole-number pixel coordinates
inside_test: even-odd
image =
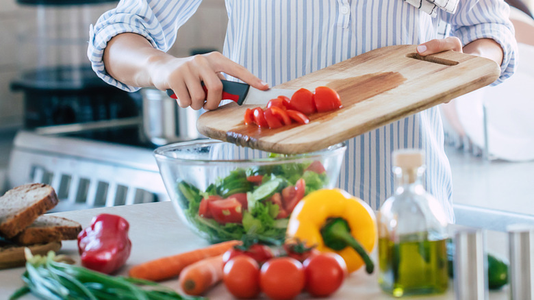
[[[216,72],[224,72],[228,75],[239,78],[246,84],[250,84],[259,90],[267,90],[269,88],[269,85],[266,82],[262,82],[262,79],[256,77],[244,66],[225,57],[225,55],[219,52],[212,52],[205,54],[205,56],[210,64],[212,64]]]

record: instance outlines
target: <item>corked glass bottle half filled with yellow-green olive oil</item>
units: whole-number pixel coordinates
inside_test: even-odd
[[[445,292],[448,288],[447,218],[424,190],[424,155],[393,153],[394,195],[381,206],[379,285],[394,297]]]

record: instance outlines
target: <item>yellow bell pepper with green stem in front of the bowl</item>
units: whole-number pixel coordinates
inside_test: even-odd
[[[369,205],[340,189],[316,190],[293,210],[288,224],[289,238],[298,238],[308,247],[342,256],[349,273],[374,264],[368,252],[377,240],[377,222]]]

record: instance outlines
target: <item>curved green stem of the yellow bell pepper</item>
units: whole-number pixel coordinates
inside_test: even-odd
[[[351,234],[351,227],[348,226],[344,218],[329,218],[327,223],[321,228],[322,240],[327,247],[341,251],[346,247],[352,247],[364,260],[366,272],[371,274],[374,270],[374,263],[369,257],[366,249]]]

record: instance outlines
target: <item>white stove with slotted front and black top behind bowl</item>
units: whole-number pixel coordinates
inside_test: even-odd
[[[22,130],[10,155],[8,186],[50,184],[60,203],[54,211],[168,201],[140,120],[116,127],[92,123]],[[83,127],[83,126],[81,126]]]

